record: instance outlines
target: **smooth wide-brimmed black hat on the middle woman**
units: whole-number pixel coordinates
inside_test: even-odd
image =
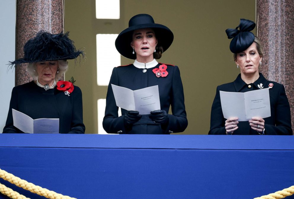
[[[130,19],[129,28],[123,30],[115,40],[115,47],[122,56],[129,59],[136,59],[136,55],[132,54],[132,33],[134,30],[141,28],[152,28],[155,31],[156,39],[158,39],[157,45],[162,46],[163,52],[172,44],[174,35],[169,28],[154,23],[153,18],[148,14],[139,14]]]

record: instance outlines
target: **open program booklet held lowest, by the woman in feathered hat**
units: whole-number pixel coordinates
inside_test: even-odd
[[[28,115],[12,109],[13,125],[24,133],[59,133],[58,118],[33,120]]]

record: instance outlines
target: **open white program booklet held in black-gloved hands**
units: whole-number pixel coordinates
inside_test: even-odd
[[[116,106],[128,111],[138,111],[139,114],[150,114],[160,110],[158,85],[138,90],[111,84]]]

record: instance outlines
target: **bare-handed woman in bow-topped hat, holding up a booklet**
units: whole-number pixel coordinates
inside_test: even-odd
[[[238,30],[239,28],[239,30]],[[256,36],[250,31],[255,23],[241,19],[236,29],[227,29],[232,39],[230,50],[240,74],[234,82],[217,87],[211,108],[209,134],[227,135],[292,135],[290,106],[283,85],[266,80],[258,71],[262,64],[262,47]],[[220,103],[220,90],[228,92],[247,92],[269,88],[271,117],[253,117],[249,121],[239,122],[237,117],[225,119]]]

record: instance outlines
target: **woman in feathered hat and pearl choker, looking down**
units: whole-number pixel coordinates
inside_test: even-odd
[[[82,92],[71,82],[59,81],[68,69],[67,59],[84,56],[76,50],[68,33],[40,31],[24,46],[24,57],[11,67],[28,63],[32,82],[13,88],[3,133],[24,133],[13,125],[12,109],[33,119],[59,118],[59,133],[84,133]],[[40,133],[40,132],[34,132]]]

